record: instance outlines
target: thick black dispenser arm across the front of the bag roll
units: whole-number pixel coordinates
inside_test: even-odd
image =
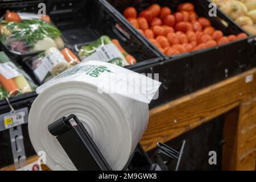
[[[76,126],[71,125],[71,119],[75,120]],[[57,136],[77,170],[112,170],[75,114],[58,119],[48,126],[48,130]]]

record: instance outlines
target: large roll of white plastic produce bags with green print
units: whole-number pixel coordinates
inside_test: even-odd
[[[119,74],[123,76],[118,77]],[[113,76],[118,77],[115,84],[132,86],[125,75],[146,80],[134,84],[135,89],[143,92],[121,92],[113,85],[106,86]],[[61,117],[76,114],[110,167],[121,170],[146,130],[148,103],[159,86],[158,81],[110,63],[89,61],[75,65],[36,90],[39,96],[28,119],[32,145],[36,152],[46,152],[46,165],[50,169],[76,170],[47,128]]]

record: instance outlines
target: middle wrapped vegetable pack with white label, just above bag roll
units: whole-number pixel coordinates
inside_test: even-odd
[[[50,80],[78,63],[79,58],[71,50],[64,48],[59,51],[55,47],[48,48],[27,61],[27,65],[40,83]]]

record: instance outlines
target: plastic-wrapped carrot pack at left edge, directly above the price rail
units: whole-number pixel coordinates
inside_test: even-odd
[[[18,94],[29,93],[36,89],[37,85],[20,68],[11,62],[9,57],[0,52],[0,100]]]

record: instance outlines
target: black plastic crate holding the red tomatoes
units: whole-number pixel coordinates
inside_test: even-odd
[[[212,26],[221,30],[224,35],[239,34],[243,30],[217,10],[217,17],[209,17],[209,2],[207,0],[108,0],[112,8],[116,8],[115,14],[122,16],[126,7],[134,6],[138,11],[146,9],[152,3],[160,6],[171,7],[173,11],[180,3],[192,2],[199,16],[209,18]],[[110,6],[110,4],[106,4]],[[228,27],[221,23],[221,19],[228,23]],[[127,26],[131,24],[126,20]],[[131,26],[133,27],[133,26]],[[135,28],[134,28],[135,30]],[[141,35],[145,41],[148,40]],[[150,44],[150,42],[148,42]],[[152,44],[151,44],[152,45]],[[153,45],[152,45],[153,46]],[[154,46],[153,46],[154,47]],[[157,48],[155,48],[158,50]],[[160,53],[160,51],[158,51]],[[164,61],[157,64],[146,65],[141,69],[135,69],[139,73],[159,73],[159,81],[162,85],[159,89],[159,98],[151,102],[150,107],[164,104],[175,98],[195,92],[216,82],[225,80],[231,76],[245,72],[256,66],[256,41],[255,36],[230,42],[222,46],[193,51],[172,57],[164,57]]]

